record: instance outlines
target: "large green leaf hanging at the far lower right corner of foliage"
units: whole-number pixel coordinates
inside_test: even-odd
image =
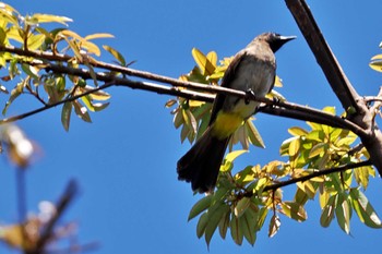
[[[350,190],[350,198],[353,207],[361,222],[370,228],[382,228],[381,219],[378,217],[366,195],[359,189]]]

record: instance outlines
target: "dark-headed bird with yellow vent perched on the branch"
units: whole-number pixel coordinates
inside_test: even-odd
[[[263,33],[237,52],[229,63],[220,86],[264,97],[276,76],[275,52],[296,36]],[[206,131],[177,164],[178,180],[191,182],[192,191],[212,193],[229,138],[254,114],[260,102],[217,94]]]

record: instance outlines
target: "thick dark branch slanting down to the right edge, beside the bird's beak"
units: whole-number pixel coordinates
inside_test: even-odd
[[[348,112],[347,118],[362,132],[357,133],[370,154],[372,164],[382,176],[382,133],[374,122],[375,112],[369,109],[366,99],[353,87],[337,59],[324,39],[305,0],[285,0],[303,37],[324,72],[333,92]],[[351,112],[355,109],[355,112]]]

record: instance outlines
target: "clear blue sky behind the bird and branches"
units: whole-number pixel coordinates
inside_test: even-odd
[[[375,95],[382,75],[368,66],[381,50],[382,1],[308,1],[332,50],[361,95]],[[115,39],[99,40],[119,49],[134,69],[178,77],[194,65],[192,47],[231,56],[255,35],[274,31],[298,39],[277,52],[278,89],[289,101],[322,108],[341,106],[333,95],[307,43],[284,1],[9,1],[21,13],[52,13],[72,17],[71,29],[80,35],[107,32]],[[105,53],[104,61],[111,58]],[[187,222],[190,208],[200,197],[189,184],[177,181],[176,161],[190,147],[180,144],[179,131],[164,107],[170,97],[128,88],[112,88],[111,105],[92,114],[87,124],[73,117],[65,133],[60,108],[23,120],[20,125],[41,147],[41,156],[27,177],[28,207],[41,199],[55,201],[69,179],[81,185],[81,196],[65,218],[80,225],[79,240],[99,240],[95,254],[208,253],[195,235],[196,221]],[[5,101],[5,97],[0,97]],[[3,104],[3,102],[1,102]],[[31,105],[15,102],[10,113]],[[287,128],[303,125],[268,116],[256,116],[255,124],[266,149],[251,148],[239,165],[277,159]],[[0,222],[15,221],[14,172],[0,161]],[[290,196],[286,189],[285,194]],[[382,182],[371,181],[367,195],[382,216]],[[308,205],[308,221],[282,217],[280,231],[267,238],[267,227],[255,246],[237,246],[229,238],[215,235],[211,254],[228,253],[380,253],[382,231],[367,228],[354,214],[351,237],[336,221],[321,228],[320,207]],[[0,247],[1,253],[7,249]]]

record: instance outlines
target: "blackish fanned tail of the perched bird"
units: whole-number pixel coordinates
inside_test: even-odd
[[[217,176],[229,137],[218,140],[208,128],[191,149],[178,160],[178,179],[191,182],[193,191],[211,192]]]

